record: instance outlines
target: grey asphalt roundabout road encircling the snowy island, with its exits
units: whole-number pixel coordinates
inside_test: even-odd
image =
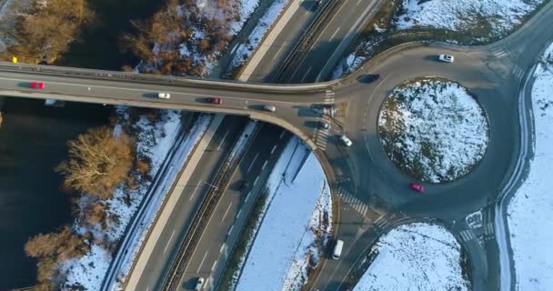
[[[323,263],[312,290],[346,289],[368,246],[376,241],[376,234],[427,217],[448,226],[468,251],[473,289],[498,289],[493,206],[519,151],[518,90],[526,70],[553,40],[550,30],[542,28],[553,25],[552,15],[549,4],[521,30],[485,47],[417,47],[387,55],[385,60],[379,57],[350,77],[350,83],[343,86],[345,91],[336,91],[336,102],[348,104],[346,126],[341,132],[354,142],[351,148],[327,146],[326,151],[338,174],[335,192],[341,196],[341,211],[337,236],[346,241],[346,246],[339,261]],[[456,62],[448,65],[453,70],[436,61],[443,53],[456,56]],[[381,75],[364,93],[355,87],[365,85],[353,81],[363,74]],[[425,195],[418,195],[407,187],[412,180],[387,159],[380,146],[377,114],[391,88],[427,75],[456,80],[477,96],[488,115],[490,141],[475,171],[453,183],[427,185]],[[480,209],[483,224],[471,229],[465,218]]]

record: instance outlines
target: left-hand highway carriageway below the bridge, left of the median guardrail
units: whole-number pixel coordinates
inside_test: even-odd
[[[223,124],[227,126],[220,126],[216,130],[206,153],[199,161],[201,166],[194,169],[188,184],[176,203],[175,208],[178,211],[171,213],[162,234],[157,237],[158,244],[156,244],[152,255],[149,256],[146,269],[138,280],[138,290],[160,289],[160,280],[163,279],[167,267],[173,261],[177,246],[186,236],[196,210],[211,187],[217,169],[223,163],[223,157],[234,146],[236,138],[240,135],[245,123],[246,119],[244,117],[228,115],[223,120]]]

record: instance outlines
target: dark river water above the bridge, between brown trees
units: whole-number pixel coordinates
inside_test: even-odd
[[[132,19],[147,19],[165,3],[163,0],[88,0],[96,21],[85,29],[82,41],[69,47],[55,65],[120,70],[122,65],[136,65],[133,55],[122,53],[120,37],[134,32]]]

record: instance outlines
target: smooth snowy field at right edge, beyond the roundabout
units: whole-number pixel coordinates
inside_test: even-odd
[[[535,156],[526,181],[508,205],[508,228],[517,276],[516,290],[553,290],[553,45],[532,87]]]

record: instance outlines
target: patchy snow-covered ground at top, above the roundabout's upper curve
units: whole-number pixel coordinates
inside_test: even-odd
[[[374,33],[357,45],[335,68],[332,79],[359,68],[388,37],[409,28],[437,28],[476,35],[475,42],[508,35],[544,0],[403,0],[403,10],[391,19],[389,30],[374,25]],[[382,35],[384,34],[384,35]],[[449,39],[455,43],[456,39]]]

